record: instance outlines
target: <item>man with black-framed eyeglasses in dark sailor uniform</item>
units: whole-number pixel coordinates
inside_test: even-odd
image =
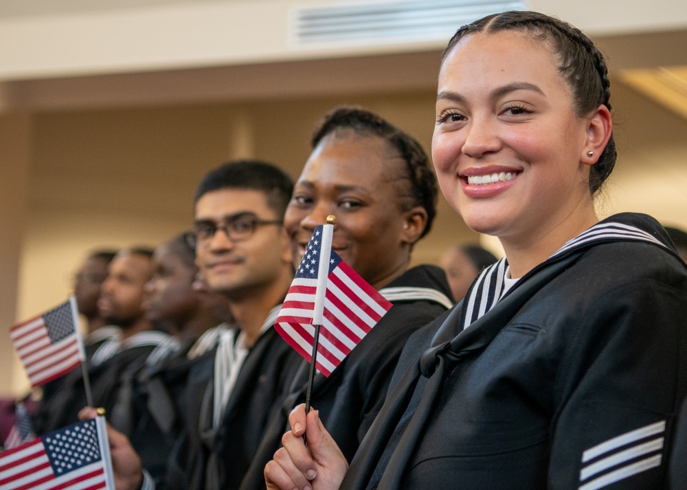
[[[238,487],[260,442],[285,373],[297,354],[273,323],[293,279],[282,227],[293,181],[260,161],[235,161],[207,174],[185,233],[207,284],[229,301],[238,329],[225,331],[196,401],[185,440],[172,454],[165,488]]]

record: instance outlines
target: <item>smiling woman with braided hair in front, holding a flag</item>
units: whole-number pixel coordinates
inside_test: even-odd
[[[653,218],[596,216],[616,159],[609,95],[598,49],[557,19],[505,12],[458,30],[433,162],[451,206],[507,258],[409,340],[350,467],[300,406],[269,488],[667,485],[687,270]]]

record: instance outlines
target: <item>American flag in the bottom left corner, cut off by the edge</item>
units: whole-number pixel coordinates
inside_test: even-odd
[[[102,417],[67,425],[0,452],[3,490],[114,490],[112,481]]]

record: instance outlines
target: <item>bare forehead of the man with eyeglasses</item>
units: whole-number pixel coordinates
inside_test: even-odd
[[[222,220],[231,215],[253,213],[260,217],[272,215],[267,195],[256,189],[218,189],[196,201],[196,220]]]

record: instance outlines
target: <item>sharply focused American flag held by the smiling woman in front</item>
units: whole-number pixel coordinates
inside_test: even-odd
[[[319,257],[322,253],[322,233],[323,226],[317,226],[274,325],[282,338],[308,362],[312,358],[315,334],[313,312]],[[389,311],[392,304],[366,283],[334,250],[330,250],[326,279],[324,317],[315,366],[325,376],[329,376]]]

